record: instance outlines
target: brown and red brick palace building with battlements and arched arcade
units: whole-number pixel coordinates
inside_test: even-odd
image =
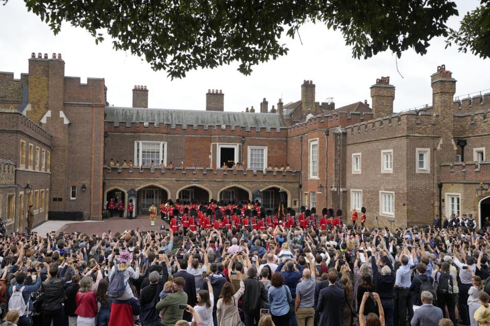
[[[125,207],[133,199],[138,214],[176,198],[341,208],[346,218],[365,206],[371,225],[376,215],[380,225],[426,223],[439,203],[443,215],[489,214],[490,199],[476,189],[490,180],[490,94],[454,101],[455,83],[439,67],[432,106],[401,113],[393,113],[389,78],[371,87],[371,107],[318,103],[307,80],[298,101],[279,99],[269,109],[263,98],[258,112],[226,111],[224,92],[211,89],[206,110],[151,109],[146,86],[134,86],[131,107],[114,107],[104,79],[81,84],[64,76],[61,55],[33,53],[20,80],[0,73],[0,129],[10,137],[0,159],[15,170],[14,182],[0,186],[10,189],[2,190],[0,214],[13,214],[12,228],[21,229],[24,202],[36,203],[35,193],[35,224],[100,219],[110,198]],[[33,199],[22,193],[27,182]],[[15,212],[4,213],[13,188]]]

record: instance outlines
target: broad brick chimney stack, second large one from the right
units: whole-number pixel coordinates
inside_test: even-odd
[[[371,99],[373,119],[393,114],[395,86],[389,84],[389,76],[378,78],[376,84],[371,86]]]

